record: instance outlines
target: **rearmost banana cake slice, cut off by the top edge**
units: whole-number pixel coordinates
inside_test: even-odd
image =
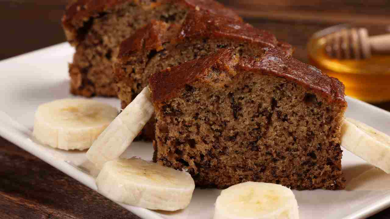
[[[240,19],[214,0],[75,0],[62,18],[67,40],[76,47],[69,65],[71,92],[116,96],[112,60],[117,46],[152,19],[180,24],[193,10]]]

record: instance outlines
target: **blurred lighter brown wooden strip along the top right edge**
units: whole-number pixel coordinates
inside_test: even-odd
[[[388,1],[223,0],[244,17],[324,23],[389,24]],[[387,11],[387,12],[386,12]]]

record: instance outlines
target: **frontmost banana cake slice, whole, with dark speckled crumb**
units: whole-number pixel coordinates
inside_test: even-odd
[[[197,186],[345,187],[344,85],[284,51],[221,49],[152,74],[149,87],[154,161],[188,170]]]

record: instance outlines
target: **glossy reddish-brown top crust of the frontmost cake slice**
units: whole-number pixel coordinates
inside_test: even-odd
[[[237,60],[237,55],[233,54],[232,48],[221,49],[215,54],[153,74],[149,79],[152,100],[163,102],[176,97],[180,89],[195,81],[202,81],[210,86],[221,86],[211,82],[212,79],[207,74],[207,69],[211,67],[228,72],[229,77],[243,72],[275,75],[294,81],[320,94],[329,102],[346,104],[344,85],[338,79],[329,77],[316,67],[304,64],[275,48],[264,48],[264,53],[259,57],[243,57],[239,60]],[[226,77],[226,75],[212,77]]]

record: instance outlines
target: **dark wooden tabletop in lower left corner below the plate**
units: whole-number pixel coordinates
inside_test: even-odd
[[[0,218],[138,218],[0,138]]]

